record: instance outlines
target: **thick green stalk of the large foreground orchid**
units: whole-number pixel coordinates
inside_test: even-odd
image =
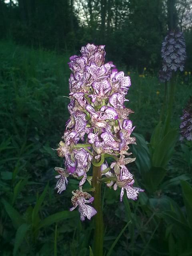
[[[94,201],[93,206],[97,211],[94,216],[94,241],[93,254],[94,256],[103,256],[103,214],[102,214],[102,200],[101,200],[101,166],[93,166],[92,188]]]

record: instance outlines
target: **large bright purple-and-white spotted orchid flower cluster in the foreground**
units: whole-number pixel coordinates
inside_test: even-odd
[[[141,188],[133,186],[134,177],[126,167],[135,158],[125,158],[129,144],[136,144],[131,137],[135,127],[128,115],[133,113],[126,108],[125,96],[131,85],[129,76],[116,69],[112,62],[104,63],[104,45],[87,44],[80,50],[81,55],[71,56],[69,67],[72,74],[69,78],[70,103],[68,110],[70,118],[66,122],[66,131],[57,148],[58,155],[64,158],[65,169],[55,168],[59,173],[56,188],[58,193],[66,189],[67,177],[80,179],[79,190],[72,192],[72,207],[79,206],[80,218],[89,220],[96,214],[96,210],[87,205],[94,198],[87,192],[82,192],[86,180],[92,177],[87,172],[91,163],[99,167],[101,180],[114,190],[121,188],[120,200],[124,189],[128,199],[136,200]],[[107,157],[115,159],[110,166]]]

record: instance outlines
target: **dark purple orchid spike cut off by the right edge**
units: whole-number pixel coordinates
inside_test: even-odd
[[[181,120],[180,140],[182,141],[184,138],[192,140],[192,97],[190,97],[187,107],[183,110]]]

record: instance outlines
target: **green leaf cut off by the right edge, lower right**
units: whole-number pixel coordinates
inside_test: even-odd
[[[187,181],[181,181],[182,194],[190,226],[192,227],[192,187]]]

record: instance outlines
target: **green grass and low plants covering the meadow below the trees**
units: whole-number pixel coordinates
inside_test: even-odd
[[[78,212],[67,211],[76,180],[71,179],[61,195],[53,189],[54,166],[62,166],[62,161],[52,148],[57,148],[69,116],[68,99],[62,97],[68,95],[68,59],[66,53],[58,55],[0,42],[0,253],[3,256],[13,253],[75,256],[77,251],[80,256],[89,255],[92,222],[81,223]],[[145,77],[130,71],[132,86],[127,97],[128,106],[135,111],[131,115],[135,132],[149,142],[158,124],[164,84],[158,82],[152,71],[143,74]],[[182,109],[192,94],[189,79],[184,74],[177,76],[174,128],[179,127]],[[186,194],[190,193],[190,186],[182,184],[182,191],[177,178],[191,180],[189,156],[189,146],[181,147],[177,142],[164,179],[167,183],[162,182],[151,194],[142,193],[137,202],[124,198],[124,203],[120,203],[119,192],[104,189],[106,251],[131,221],[110,255],[190,255],[191,224],[183,212],[188,200],[183,191],[186,187]],[[134,164],[132,169],[137,171]],[[143,183],[142,177],[139,183]],[[182,254],[182,250],[188,254]]]

